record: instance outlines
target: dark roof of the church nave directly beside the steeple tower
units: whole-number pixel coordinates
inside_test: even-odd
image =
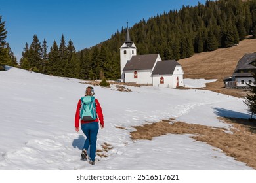
[[[153,69],[157,58],[158,54],[133,56],[131,60],[127,61],[123,71]]]

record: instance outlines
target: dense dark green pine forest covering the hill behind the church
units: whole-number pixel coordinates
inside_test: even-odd
[[[0,16],[1,18],[1,16]],[[60,44],[33,41],[24,45],[19,64],[5,42],[7,31],[0,19],[0,52],[2,65],[17,65],[39,73],[81,79],[117,80],[120,77],[119,48],[125,41],[126,27],[110,39],[91,48],[75,50],[72,40],[61,36]],[[137,54],[160,54],[161,59],[179,60],[194,53],[235,46],[247,35],[256,37],[256,0],[205,1],[194,7],[183,6],[140,20],[129,27]],[[49,48],[49,49],[48,49]]]

